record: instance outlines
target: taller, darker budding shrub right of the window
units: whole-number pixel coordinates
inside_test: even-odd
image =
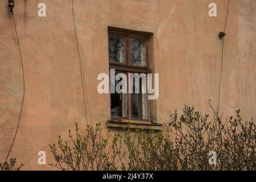
[[[177,169],[185,170],[255,170],[255,124],[253,120],[242,123],[240,110],[236,118],[222,121],[213,109],[213,119],[204,117],[194,107],[185,106],[184,114],[178,119],[171,114],[166,124],[168,134],[175,136],[174,142],[168,137],[166,147],[179,159]],[[170,143],[170,144],[169,144]],[[217,153],[216,165],[210,165],[209,152]]]

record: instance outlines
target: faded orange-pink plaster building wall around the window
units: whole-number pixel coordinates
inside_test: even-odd
[[[110,97],[97,92],[97,75],[108,73],[108,26],[154,33],[155,72],[159,73],[156,115],[169,121],[169,111],[193,105],[209,113],[217,107],[221,40],[228,1],[223,0],[73,0],[77,36],[86,82],[82,97],[79,59],[68,0],[44,0],[47,16],[38,17],[39,0],[15,0],[14,16],[23,57],[25,96],[19,130],[10,156],[23,169],[52,169],[38,165],[38,151],[53,162],[49,143],[66,135],[73,123],[95,125],[106,132]],[[217,4],[217,17],[208,15]],[[256,2],[230,0],[220,110],[241,109],[243,119],[256,115]],[[0,1],[0,161],[13,140],[23,95],[22,69],[7,0]],[[91,116],[90,117],[90,113]],[[114,130],[117,131],[117,130]],[[119,130],[122,131],[122,130]]]

